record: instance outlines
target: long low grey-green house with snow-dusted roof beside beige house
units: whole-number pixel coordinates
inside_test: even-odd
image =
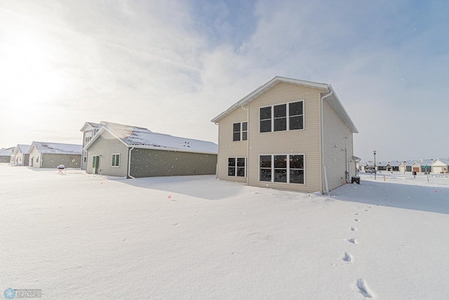
[[[154,133],[146,128],[101,122],[83,148],[89,174],[185,176],[215,174],[217,144]]]

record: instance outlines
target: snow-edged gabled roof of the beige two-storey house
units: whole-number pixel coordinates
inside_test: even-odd
[[[332,107],[332,109],[335,111],[335,113],[338,115],[338,117],[340,117],[340,119],[342,119],[342,122],[344,122],[344,124],[346,124],[349,127],[349,129],[351,129],[351,131],[353,133],[358,133],[356,126],[352,122],[352,120],[349,117],[349,115],[347,114],[346,110],[344,110],[342,103],[340,103],[340,100],[338,99],[337,94],[335,94],[335,91],[333,90],[332,86],[330,86],[330,84],[321,84],[319,82],[305,81],[305,80],[293,79],[293,78],[288,78],[288,77],[280,77],[280,76],[276,76],[273,79],[271,79],[270,81],[268,81],[266,84],[259,86],[257,89],[255,89],[255,91],[248,94],[248,96],[239,100],[239,102],[234,103],[234,105],[232,105],[227,110],[225,110],[225,112],[222,112],[220,115],[213,118],[211,120],[211,122],[214,122],[214,123],[219,122],[220,119],[229,115],[231,112],[236,110],[238,107],[243,107],[245,105],[248,105],[248,103],[250,103],[252,100],[259,97],[260,95],[262,95],[269,89],[272,89],[273,86],[275,86],[276,84],[279,84],[281,82],[287,83],[287,84],[295,84],[298,86],[307,86],[311,89],[318,89],[319,91],[326,93],[326,94],[323,94],[323,96],[327,96],[326,98],[324,98],[324,100],[330,105],[330,107]]]

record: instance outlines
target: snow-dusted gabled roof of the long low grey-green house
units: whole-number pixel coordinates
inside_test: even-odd
[[[217,154],[218,146],[215,143],[199,141],[191,138],[180,138],[163,133],[155,133],[143,127],[102,122],[100,131],[84,147],[88,149],[97,140],[101,133],[107,131],[119,139],[128,148],[144,148],[158,150],[176,150],[183,152],[199,152]]]

